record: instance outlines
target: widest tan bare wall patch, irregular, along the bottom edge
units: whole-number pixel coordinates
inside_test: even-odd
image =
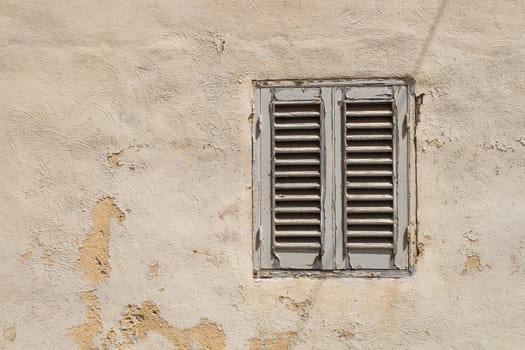
[[[147,338],[150,332],[165,337],[177,350],[220,350],[224,349],[224,332],[207,319],[191,328],[176,328],[160,316],[157,305],[146,301],[142,306],[128,305],[122,315],[118,332],[111,330],[103,349],[126,349]]]

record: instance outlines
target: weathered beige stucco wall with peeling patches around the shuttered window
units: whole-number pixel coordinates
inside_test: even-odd
[[[0,349],[523,346],[523,1],[2,0],[0,33]],[[398,76],[416,273],[252,278],[251,80]]]

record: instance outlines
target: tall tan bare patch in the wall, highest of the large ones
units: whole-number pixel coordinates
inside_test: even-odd
[[[112,198],[97,202],[91,213],[93,227],[80,248],[77,266],[84,270],[83,277],[96,287],[109,277],[109,234],[111,219],[119,224],[124,222],[124,213],[115,205]]]

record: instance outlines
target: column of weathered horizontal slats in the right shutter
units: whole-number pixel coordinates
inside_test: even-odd
[[[394,251],[394,110],[391,101],[345,102],[346,249]]]

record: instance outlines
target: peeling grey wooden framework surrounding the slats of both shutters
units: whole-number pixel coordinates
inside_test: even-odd
[[[294,85],[295,84],[295,85]],[[297,276],[301,274],[309,276],[367,276],[367,277],[399,277],[410,273],[414,259],[413,242],[415,230],[410,229],[415,225],[414,196],[410,195],[409,182],[414,178],[415,168],[411,166],[414,162],[413,134],[414,125],[410,115],[414,113],[412,101],[414,86],[411,81],[399,80],[375,80],[375,81],[318,81],[300,84],[291,81],[267,81],[255,82],[255,99],[253,113],[253,258],[254,275],[260,277],[269,276]],[[371,93],[372,92],[372,93]],[[394,192],[394,241],[393,254],[387,265],[352,264],[353,256],[347,254],[346,250],[346,210],[343,198],[346,189],[344,183],[343,169],[346,165],[346,142],[343,127],[346,127],[346,116],[344,113],[344,101],[348,99],[385,100],[394,101],[395,122],[393,128],[393,167],[396,173]],[[273,101],[272,101],[273,100]],[[320,135],[321,147],[321,180],[324,194],[321,198],[321,218],[323,228],[322,249],[323,254],[315,265],[305,264],[304,260],[297,265],[294,263],[282,264],[273,235],[274,210],[274,155],[272,139],[272,106],[274,101],[279,103],[297,102],[321,103]],[[343,124],[343,121],[345,124]],[[301,127],[315,128],[315,125],[303,123]],[[368,125],[379,129],[388,125]],[[399,126],[399,127],[398,127]],[[284,125],[285,129],[294,129],[294,125]],[[292,133],[293,134],[293,133]],[[290,150],[288,150],[290,151]],[[380,149],[374,149],[379,152]],[[291,151],[290,151],[291,152]],[[378,160],[382,162],[381,160]],[[286,163],[290,163],[286,161]],[[282,164],[282,160],[281,160]],[[312,184],[313,185],[313,184]],[[362,184],[354,184],[358,188]],[[286,185],[288,188],[292,184]],[[286,187],[285,186],[285,187]],[[383,188],[385,184],[375,184]],[[381,187],[383,186],[383,187]],[[282,186],[281,186],[282,187]],[[366,216],[366,215],[364,215]],[[344,220],[343,220],[344,219]],[[409,252],[410,249],[410,252]],[[286,260],[286,259],[285,259]],[[299,259],[300,260],[300,259]]]

